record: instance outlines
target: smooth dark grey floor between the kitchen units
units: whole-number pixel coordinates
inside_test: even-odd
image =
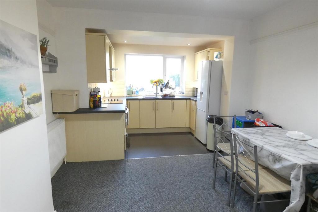
[[[125,158],[210,153],[191,133],[129,134]]]

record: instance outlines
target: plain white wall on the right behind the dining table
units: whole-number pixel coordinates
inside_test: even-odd
[[[285,129],[314,138],[318,137],[317,21],[317,1],[291,2],[252,20],[248,58],[251,107]]]

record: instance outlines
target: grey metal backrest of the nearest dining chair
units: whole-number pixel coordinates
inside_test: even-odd
[[[250,179],[255,181],[255,191],[251,190],[254,193],[258,193],[259,190],[259,169],[258,169],[258,155],[257,155],[257,146],[251,145],[249,141],[244,139],[239,139],[237,134],[233,134],[233,144],[235,151],[235,163],[236,163],[236,175],[239,171],[244,172]],[[251,164],[246,164],[249,160],[241,160],[241,156],[246,157],[247,159],[251,159],[254,161],[254,166]],[[247,161],[247,162],[246,162]],[[244,171],[246,170],[246,171]],[[247,171],[251,171],[255,174],[251,176],[251,174],[247,173]]]

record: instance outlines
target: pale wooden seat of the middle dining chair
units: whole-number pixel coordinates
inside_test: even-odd
[[[227,155],[225,157],[218,157],[218,160],[222,161],[222,163],[227,168],[231,168],[231,155]],[[242,161],[242,162],[239,162],[239,166],[240,166],[239,171],[242,171],[242,170],[247,171],[250,169],[252,169],[252,170],[255,169],[255,162],[252,161],[251,159],[244,157],[243,155],[240,155],[239,160]],[[247,166],[247,167],[245,167],[242,163],[244,163],[245,166]],[[266,168],[266,167],[259,164],[259,169],[263,169],[263,168]],[[234,159],[234,170],[233,171],[235,172],[235,170],[236,170],[236,161]]]

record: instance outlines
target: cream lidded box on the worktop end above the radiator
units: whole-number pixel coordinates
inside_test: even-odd
[[[52,90],[53,112],[73,112],[79,109],[78,90]]]

